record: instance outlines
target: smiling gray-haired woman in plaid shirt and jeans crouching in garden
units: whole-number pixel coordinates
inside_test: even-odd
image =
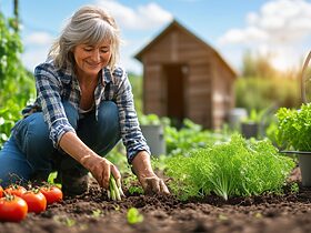
[[[23,110],[0,152],[0,179],[47,180],[57,170],[67,194],[88,191],[88,172],[109,188],[117,166],[106,155],[120,139],[132,171],[147,193],[169,193],[152,171],[131,87],[117,65],[119,31],[104,10],[79,9],[34,70],[37,100]],[[12,176],[13,174],[13,176]]]

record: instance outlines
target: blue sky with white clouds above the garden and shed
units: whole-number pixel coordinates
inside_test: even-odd
[[[22,61],[43,62],[66,20],[84,4],[107,9],[121,30],[120,63],[140,74],[133,57],[174,19],[213,47],[237,72],[245,52],[279,70],[300,69],[311,50],[311,0],[19,0]],[[13,0],[0,0],[6,17]]]

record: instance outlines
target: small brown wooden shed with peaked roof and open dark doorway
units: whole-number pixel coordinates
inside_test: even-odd
[[[143,112],[219,129],[234,107],[235,72],[173,20],[136,54],[143,64]]]

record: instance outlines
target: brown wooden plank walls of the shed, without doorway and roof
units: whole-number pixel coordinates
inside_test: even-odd
[[[165,115],[165,77],[163,67],[188,67],[185,79],[185,116],[208,129],[219,128],[231,103],[230,73],[215,53],[182,30],[173,30],[143,55],[144,113]],[[215,60],[215,61],[214,61]],[[215,65],[215,68],[212,68]],[[230,100],[229,100],[230,99]]]

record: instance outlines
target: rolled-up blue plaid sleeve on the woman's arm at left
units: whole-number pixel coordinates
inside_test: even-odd
[[[76,133],[69,123],[62,102],[62,83],[53,67],[49,63],[40,64],[34,70],[38,103],[42,109],[44,121],[50,130],[50,139],[54,148],[59,148],[61,136],[69,131]]]

